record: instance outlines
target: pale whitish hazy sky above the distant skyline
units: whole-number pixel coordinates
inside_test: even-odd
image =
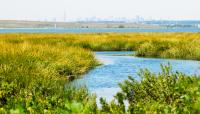
[[[0,19],[66,20],[136,15],[200,20],[200,0],[0,0]]]

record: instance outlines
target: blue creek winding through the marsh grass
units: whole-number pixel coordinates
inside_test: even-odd
[[[158,73],[161,71],[160,64],[171,63],[173,70],[186,74],[200,74],[200,62],[192,60],[154,59],[138,58],[134,56],[122,56],[133,54],[133,52],[96,52],[96,58],[103,63],[81,79],[74,83],[86,85],[97,98],[105,97],[108,100],[113,98],[116,92],[120,91],[118,83],[133,76],[138,79],[138,71],[148,68]]]

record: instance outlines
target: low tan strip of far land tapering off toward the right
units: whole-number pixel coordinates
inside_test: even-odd
[[[161,28],[157,25],[134,22],[41,22],[0,20],[0,28]]]

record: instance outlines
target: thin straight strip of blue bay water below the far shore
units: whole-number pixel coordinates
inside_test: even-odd
[[[77,28],[77,29],[0,29],[0,33],[102,33],[102,32],[200,32],[200,28],[137,29],[137,28]]]

